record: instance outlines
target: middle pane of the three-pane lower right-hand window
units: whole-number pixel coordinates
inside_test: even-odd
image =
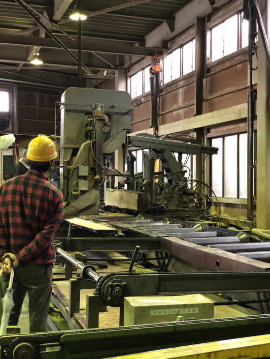
[[[237,136],[224,137],[224,197],[237,197]]]

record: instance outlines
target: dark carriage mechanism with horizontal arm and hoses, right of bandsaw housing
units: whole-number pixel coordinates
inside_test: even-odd
[[[148,133],[129,135],[128,149],[143,149],[143,172],[132,176],[135,159],[130,156],[132,180],[128,188],[149,194],[151,206],[146,213],[180,220],[199,219],[212,206],[212,191],[202,180],[186,176],[182,155],[212,155],[218,149],[178,138],[172,135],[160,139]],[[160,170],[156,169],[157,161]]]

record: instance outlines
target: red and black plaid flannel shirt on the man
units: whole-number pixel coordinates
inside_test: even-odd
[[[0,187],[0,256],[14,253],[20,265],[55,262],[62,210],[62,192],[37,171],[8,179]]]

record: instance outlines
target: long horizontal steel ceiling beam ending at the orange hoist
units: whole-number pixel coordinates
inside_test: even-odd
[[[34,36],[20,36],[20,35],[6,35],[0,34],[0,44],[11,44],[14,46],[41,46],[50,49],[62,50],[63,48],[53,39],[47,37]],[[66,47],[70,51],[77,52],[77,44],[75,41],[65,41]],[[90,51],[104,54],[120,54],[120,55],[134,55],[134,56],[153,56],[153,53],[158,48],[141,47],[141,46],[126,46],[126,45],[108,45],[100,43],[84,42],[82,44],[82,51]]]

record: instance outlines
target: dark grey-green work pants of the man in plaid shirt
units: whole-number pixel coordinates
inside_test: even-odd
[[[0,298],[3,298],[8,287],[9,274],[0,277]],[[52,293],[52,264],[29,264],[14,269],[12,288],[15,303],[9,317],[8,325],[18,325],[21,308],[28,293],[29,296],[29,323],[30,332],[46,331],[47,317]],[[2,316],[2,303],[0,300],[0,317]]]

